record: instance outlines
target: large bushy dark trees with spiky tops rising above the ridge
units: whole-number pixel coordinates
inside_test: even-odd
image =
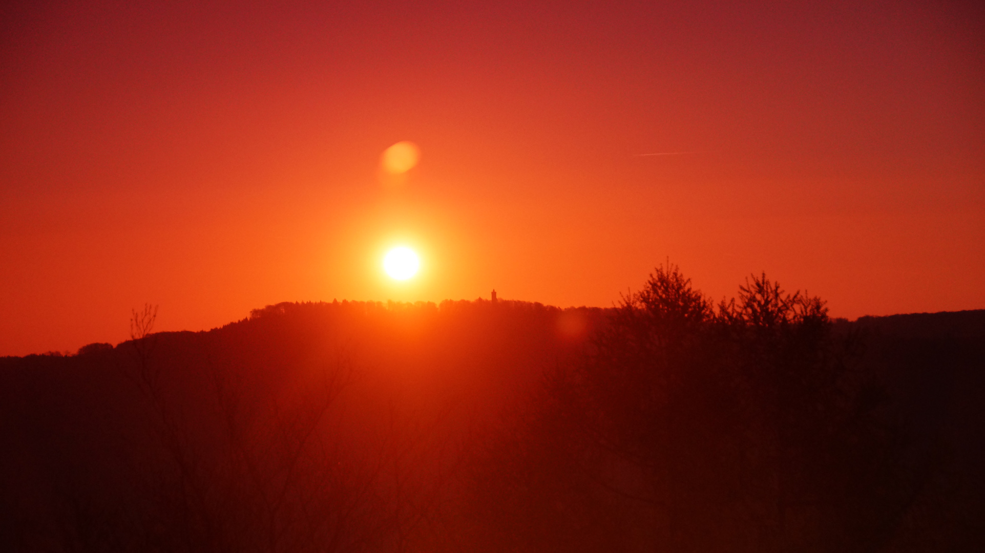
[[[880,383],[851,370],[832,329],[820,298],[765,275],[713,306],[677,267],[658,268],[593,350],[494,434],[477,498],[499,482],[513,491],[480,512],[523,527],[518,506],[538,506],[512,534],[531,550],[546,535],[606,550],[600,528],[626,550],[873,547],[907,484],[891,421],[873,410]]]

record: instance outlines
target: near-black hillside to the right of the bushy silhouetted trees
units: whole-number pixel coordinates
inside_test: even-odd
[[[897,547],[985,544],[985,310],[862,317],[861,366],[884,375],[920,487]]]

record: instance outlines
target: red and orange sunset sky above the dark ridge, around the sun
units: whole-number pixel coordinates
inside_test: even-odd
[[[157,330],[609,306],[668,258],[715,298],[765,271],[834,316],[985,308],[985,9],[744,4],[8,6],[0,355],[122,340],[145,302]]]

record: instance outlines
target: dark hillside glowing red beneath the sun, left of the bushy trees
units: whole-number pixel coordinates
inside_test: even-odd
[[[405,547],[469,433],[603,319],[513,301],[279,304],[210,332],[0,359],[3,539]],[[327,515],[341,519],[312,522]]]

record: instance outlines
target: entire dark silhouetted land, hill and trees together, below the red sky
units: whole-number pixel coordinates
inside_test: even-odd
[[[0,358],[6,550],[985,545],[985,311],[832,320],[765,275],[714,302],[667,264],[607,309],[156,315]]]

